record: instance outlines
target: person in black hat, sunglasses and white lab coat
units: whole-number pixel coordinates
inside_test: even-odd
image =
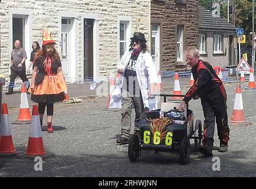
[[[135,32],[130,38],[130,49],[124,53],[117,72],[121,74],[119,89],[122,89],[123,104],[121,108],[121,138],[117,144],[127,144],[132,124],[132,107],[135,107],[135,122],[142,118],[144,110],[157,108],[156,98],[151,94],[156,93],[155,64],[147,51],[145,35]],[[134,129],[135,132],[139,128]]]

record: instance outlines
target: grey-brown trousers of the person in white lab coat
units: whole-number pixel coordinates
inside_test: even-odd
[[[131,96],[126,90],[122,91],[123,104],[121,108],[121,137],[129,139],[129,134],[132,128],[132,105],[135,108],[135,122],[139,122],[142,118],[144,111],[144,105],[142,95]],[[139,131],[139,128],[135,128],[134,131]]]

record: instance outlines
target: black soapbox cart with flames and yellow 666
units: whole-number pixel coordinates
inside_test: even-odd
[[[184,97],[184,95],[160,94],[164,97],[161,109],[146,112],[146,119],[135,123],[140,130],[130,136],[128,156],[135,162],[142,150],[152,150],[177,153],[181,164],[187,164],[190,159],[190,139],[194,139],[195,150],[201,145],[201,120],[194,124],[193,111],[187,109],[178,111],[180,102],[166,102],[167,97]]]

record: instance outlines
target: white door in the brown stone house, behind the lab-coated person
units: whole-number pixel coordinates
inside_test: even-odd
[[[155,63],[156,71],[160,70],[160,54],[159,54],[159,25],[152,24],[151,25],[151,56],[153,58],[153,63]]]

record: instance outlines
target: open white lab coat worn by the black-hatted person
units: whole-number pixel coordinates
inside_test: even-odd
[[[121,57],[121,61],[117,64],[117,69],[126,70],[127,64],[129,63],[130,57],[132,56],[133,50],[128,50]],[[135,66],[137,80],[139,82],[140,92],[142,94],[144,107],[148,107],[149,110],[157,109],[156,97],[150,97],[150,84],[158,83],[158,76],[156,74],[155,64],[153,63],[152,57],[148,52],[141,52],[137,58]],[[124,74],[121,74],[117,84],[119,89],[123,86]]]

